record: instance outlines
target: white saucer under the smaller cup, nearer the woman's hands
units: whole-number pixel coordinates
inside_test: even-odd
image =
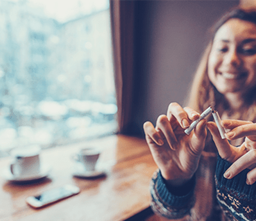
[[[76,163],[74,167],[73,176],[74,177],[102,177],[106,175],[105,170],[96,169],[94,171],[87,171],[82,163]]]

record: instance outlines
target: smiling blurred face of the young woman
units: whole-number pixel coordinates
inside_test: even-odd
[[[244,95],[256,86],[256,24],[232,18],[215,34],[208,76],[217,90]]]

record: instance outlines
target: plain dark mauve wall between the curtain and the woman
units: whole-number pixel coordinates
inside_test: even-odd
[[[129,6],[134,2],[135,20],[134,96],[125,131],[143,137],[142,125],[146,120],[155,125],[157,117],[167,113],[171,102],[186,105],[190,83],[208,44],[212,25],[233,7],[251,7],[255,0],[121,2]]]

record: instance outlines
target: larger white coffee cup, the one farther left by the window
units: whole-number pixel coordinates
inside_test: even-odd
[[[40,174],[40,147],[18,147],[12,151],[14,162],[10,165],[15,177],[31,177]]]

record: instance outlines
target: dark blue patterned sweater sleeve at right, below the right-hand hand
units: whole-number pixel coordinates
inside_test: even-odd
[[[246,184],[249,169],[243,170],[232,179],[224,178],[223,174],[231,164],[218,156],[215,176],[218,202],[231,220],[256,220],[256,183]]]

